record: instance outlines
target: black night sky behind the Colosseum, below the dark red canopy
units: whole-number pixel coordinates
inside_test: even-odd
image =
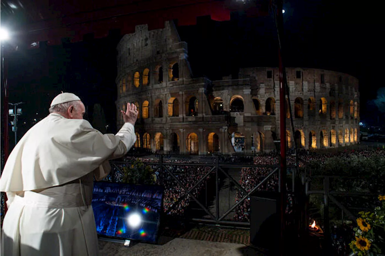
[[[383,21],[380,8],[341,1],[286,2],[284,62],[286,66],[325,68],[360,80],[361,118],[366,102],[383,86]],[[234,13],[229,22],[198,18],[197,25],[177,27],[188,43],[194,76],[211,80],[236,75],[238,68],[278,66],[275,23],[272,17],[247,18]],[[25,101],[23,133],[33,119],[44,118],[52,98],[61,90],[79,94],[88,106],[101,103],[106,121],[116,130],[116,45],[121,35],[9,55],[10,102]],[[364,89],[363,89],[364,88]],[[37,114],[36,114],[37,113]],[[13,136],[12,134],[10,135]]]

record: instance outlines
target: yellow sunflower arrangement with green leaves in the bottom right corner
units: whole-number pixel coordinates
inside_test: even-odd
[[[385,248],[385,196],[379,195],[382,206],[373,212],[360,212],[357,226],[354,228],[355,239],[350,248],[358,256],[374,256],[381,254]]]

